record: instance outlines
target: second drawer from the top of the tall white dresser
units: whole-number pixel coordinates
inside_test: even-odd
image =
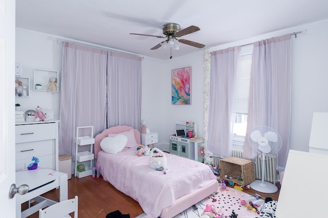
[[[37,142],[26,142],[16,144],[16,160],[32,159],[33,156],[39,158],[45,155],[55,154],[54,140],[44,140]]]

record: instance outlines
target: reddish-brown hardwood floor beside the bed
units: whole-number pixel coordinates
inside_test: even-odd
[[[136,183],[136,185],[138,185]],[[228,186],[229,187],[229,186]],[[273,194],[265,194],[252,189],[244,189],[248,194],[257,193],[261,195],[261,199],[271,197],[278,200],[278,192]],[[68,180],[68,198],[72,199],[78,196],[78,217],[103,217],[112,211],[119,210],[123,214],[130,214],[133,218],[143,213],[139,204],[124,193],[116,190],[110,183],[106,182],[103,177],[92,178],[84,177],[78,179],[72,175],[72,179]],[[42,195],[53,201],[58,201],[59,190],[53,189]],[[27,204],[23,204],[22,208],[26,208]],[[34,213],[29,218],[38,217],[38,213]]]

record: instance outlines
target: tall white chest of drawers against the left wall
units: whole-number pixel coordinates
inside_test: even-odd
[[[39,159],[38,167],[59,170],[58,123],[58,120],[16,123],[16,171],[26,170],[33,156]]]

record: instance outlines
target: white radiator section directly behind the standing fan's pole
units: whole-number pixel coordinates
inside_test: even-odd
[[[257,156],[255,163],[255,176],[262,179],[262,155]],[[275,155],[265,155],[264,181],[276,184],[277,182],[277,157]]]

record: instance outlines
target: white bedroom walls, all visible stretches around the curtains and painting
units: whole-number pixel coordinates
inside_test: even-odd
[[[268,33],[211,48],[212,51],[307,29],[292,37],[292,111],[291,149],[308,151],[313,112],[328,112],[328,20]],[[16,30],[16,62],[23,67],[22,76],[31,78],[33,68],[61,71],[61,44],[52,37]],[[182,47],[181,47],[182,49]],[[171,70],[192,67],[192,104],[172,105]],[[30,84],[31,85],[31,84]],[[59,112],[59,94],[31,91],[30,97],[17,97],[25,109],[40,105]],[[160,60],[142,60],[141,119],[159,133],[160,149],[169,149],[169,135],[176,121],[197,123],[197,135],[203,134],[203,52]]]

